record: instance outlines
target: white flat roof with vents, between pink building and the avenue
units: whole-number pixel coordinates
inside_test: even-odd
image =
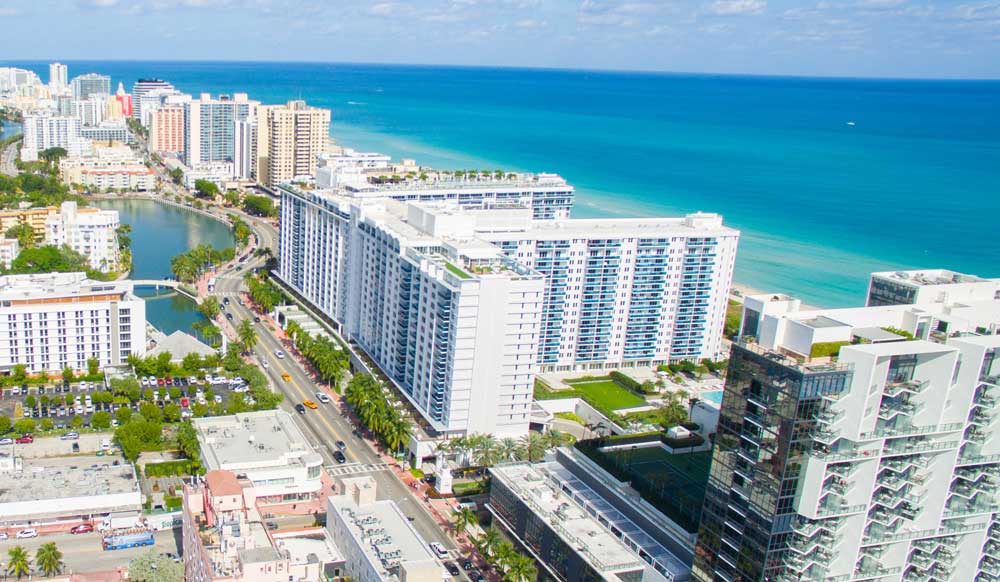
[[[373,564],[382,564],[383,556],[398,563],[437,561],[394,501],[385,499],[358,507],[353,497],[341,495],[330,497],[330,508],[341,515]]]

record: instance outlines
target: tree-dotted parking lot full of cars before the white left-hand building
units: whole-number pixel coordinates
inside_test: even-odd
[[[147,376],[139,379],[137,394],[118,396],[103,383],[96,382],[17,386],[3,390],[0,415],[10,418],[12,425],[22,418],[49,419],[55,430],[66,430],[89,428],[95,413],[107,412],[111,415],[111,428],[114,428],[118,425],[116,413],[121,408],[130,408],[135,413],[143,403],[153,403],[161,411],[175,404],[181,417],[187,418],[194,415],[196,405],[226,406],[236,397],[252,406],[254,400],[241,380],[215,374],[201,378]],[[131,396],[138,399],[133,400]]]

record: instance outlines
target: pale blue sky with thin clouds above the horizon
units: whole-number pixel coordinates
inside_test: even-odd
[[[3,0],[0,26],[8,60],[1000,78],[1000,0]]]

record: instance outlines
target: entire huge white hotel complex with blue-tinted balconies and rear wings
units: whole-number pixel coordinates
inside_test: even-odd
[[[719,352],[739,233],[573,220],[553,175],[281,187],[279,276],[438,431],[524,434],[539,370]]]

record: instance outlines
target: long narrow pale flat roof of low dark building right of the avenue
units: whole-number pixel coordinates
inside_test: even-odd
[[[563,541],[576,548],[597,572],[646,567],[610,530],[562,492],[558,480],[551,479],[548,470],[522,463],[493,467],[491,472],[552,526]]]

